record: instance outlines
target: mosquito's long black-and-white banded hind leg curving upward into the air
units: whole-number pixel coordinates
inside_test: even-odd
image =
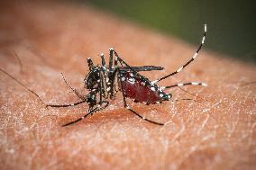
[[[179,67],[175,72],[173,72],[173,73],[171,73],[171,74],[169,74],[169,75],[167,75],[167,76],[163,76],[163,77],[161,77],[161,78],[159,78],[159,79],[157,79],[157,80],[154,80],[154,81],[152,81],[151,83],[152,83],[152,84],[156,84],[156,83],[160,82],[161,80],[164,80],[164,79],[168,78],[169,76],[173,76],[173,75],[178,74],[178,72],[180,72],[182,69],[184,69],[185,67],[187,67],[187,65],[189,65],[192,61],[194,61],[195,58],[197,58],[197,55],[198,55],[200,49],[202,49],[202,47],[203,47],[203,45],[204,45],[204,43],[205,43],[205,40],[206,40],[206,24],[205,24],[205,31],[204,31],[204,35],[203,35],[201,44],[200,44],[200,46],[198,47],[198,49],[197,49],[196,53],[194,54],[194,56],[193,56],[191,59],[189,59],[185,65],[183,65],[182,67]]]

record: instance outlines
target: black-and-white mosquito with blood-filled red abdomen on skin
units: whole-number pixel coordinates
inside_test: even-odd
[[[138,116],[143,121],[148,121],[156,125],[164,125],[165,123],[158,121],[151,121],[140,113],[135,112],[127,103],[127,98],[133,100],[134,103],[144,103],[144,104],[156,104],[165,101],[170,101],[172,94],[167,94],[164,92],[165,89],[180,87],[184,85],[202,85],[207,86],[205,83],[201,82],[188,82],[188,83],[178,83],[176,85],[160,86],[157,85],[160,81],[178,74],[181,70],[187,67],[192,61],[197,58],[199,51],[202,49],[206,40],[206,24],[204,27],[204,34],[196,53],[192,58],[190,58],[184,65],[178,67],[178,69],[167,76],[162,76],[157,80],[151,81],[148,77],[142,76],[139,72],[142,71],[152,71],[152,70],[162,70],[163,67],[155,66],[142,66],[142,67],[132,67],[128,65],[123,58],[121,58],[114,48],[109,49],[109,61],[108,65],[105,63],[105,55],[101,53],[101,65],[95,66],[91,58],[87,58],[87,65],[89,67],[89,72],[84,79],[85,88],[89,91],[87,95],[79,94],[76,89],[71,87],[63,76],[63,80],[69,86],[69,88],[78,96],[80,101],[78,103],[69,104],[46,104],[44,103],[40,96],[33,92],[31,89],[23,85],[19,80],[11,76],[5,70],[0,68],[0,71],[5,73],[5,75],[13,78],[18,84],[22,85],[25,89],[30,91],[32,94],[36,95],[41,103],[45,104],[46,107],[70,107],[81,103],[88,104],[87,114],[78,118],[75,121],[70,121],[64,125],[69,126],[78,121],[82,121],[87,118],[88,115],[93,115],[95,112],[99,112],[105,109],[109,105],[109,100],[114,100],[115,95],[121,92],[123,95],[123,106],[126,110],[132,112]]]

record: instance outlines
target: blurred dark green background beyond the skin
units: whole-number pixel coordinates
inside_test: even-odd
[[[256,5],[237,0],[87,0],[142,26],[198,44],[208,25],[207,49],[228,57],[256,62]]]

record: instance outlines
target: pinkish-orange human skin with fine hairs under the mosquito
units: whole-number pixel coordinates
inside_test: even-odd
[[[114,47],[131,66],[155,65],[151,80],[171,73],[197,47],[147,31],[87,6],[14,3],[1,5],[0,67],[39,94],[44,103],[79,99],[87,58]],[[203,26],[202,26],[203,27]],[[211,26],[208,26],[211,31]],[[203,33],[203,28],[202,28]],[[198,37],[198,42],[201,37]],[[19,65],[14,51],[21,59]],[[158,126],[123,109],[119,93],[110,106],[86,120],[87,103],[46,108],[12,78],[0,73],[1,169],[253,169],[256,166],[256,69],[204,47],[195,62],[160,85],[203,81],[207,87],[169,89],[173,100],[130,106]],[[192,95],[193,94],[193,95]]]

